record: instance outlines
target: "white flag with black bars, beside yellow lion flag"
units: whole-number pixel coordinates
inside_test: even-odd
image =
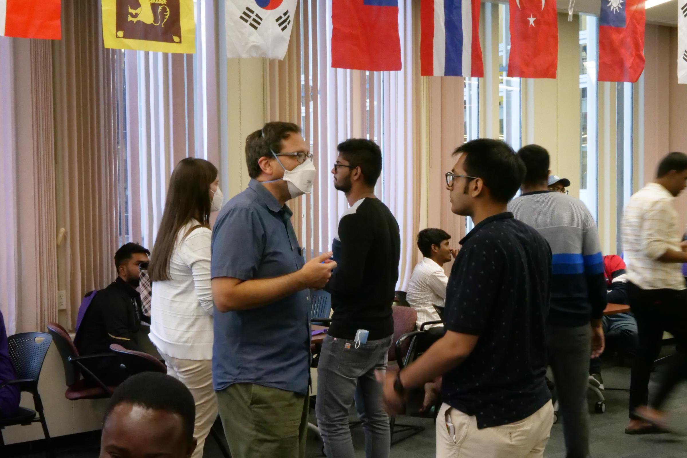
[[[283,59],[297,0],[226,0],[227,57]]]

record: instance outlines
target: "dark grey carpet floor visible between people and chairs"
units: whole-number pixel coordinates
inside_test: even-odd
[[[664,354],[671,352],[671,347],[664,349]],[[655,388],[655,381],[660,377],[661,367],[658,371],[652,374],[652,382],[650,389]],[[628,365],[620,365],[620,363],[611,358],[605,360],[603,369],[603,378],[605,386],[609,388],[629,388],[630,369]],[[592,457],[603,458],[687,458],[687,383],[679,386],[677,391],[673,393],[666,410],[671,414],[671,420],[674,428],[679,431],[678,435],[643,435],[631,436],[624,434],[624,427],[627,424],[627,401],[629,393],[627,391],[604,391],[606,398],[606,412],[602,414],[594,413],[594,396],[590,393],[589,396],[589,412],[591,422],[591,448]],[[314,417],[314,411],[311,411]],[[355,420],[354,415],[351,420]],[[412,424],[416,426],[424,426],[425,431],[418,433],[408,439],[398,442],[392,446],[392,458],[416,458],[416,457],[433,457],[435,452],[435,433],[433,420],[425,418],[409,417],[401,415],[396,420],[402,424]],[[546,458],[565,458],[565,444],[563,442],[563,428],[559,420],[554,424],[551,431],[551,439],[544,456]],[[356,457],[365,457],[365,441],[363,437],[362,428],[354,427],[351,431],[354,446],[356,449]],[[398,437],[403,437],[399,434]],[[58,441],[58,458],[95,458],[98,457],[98,436],[95,434],[82,436],[78,439],[81,451],[69,451],[65,446],[65,439],[59,438]],[[91,447],[88,447],[89,442]],[[74,442],[71,442],[74,445]],[[90,450],[83,450],[86,446]],[[8,457],[21,458],[42,458],[44,455],[40,453],[40,446],[34,447],[34,450],[29,451],[16,448],[10,448]],[[308,458],[322,457],[322,442],[311,433],[308,437]],[[222,458],[218,450],[216,442],[209,438],[205,444],[205,458]],[[269,458],[269,457],[266,457]]]

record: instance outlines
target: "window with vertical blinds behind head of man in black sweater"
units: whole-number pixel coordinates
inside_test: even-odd
[[[401,71],[331,68],[330,2],[304,0],[299,5],[300,113],[317,178],[313,192],[294,202],[293,225],[306,258],[328,251],[339,217],[348,209],[343,193],[334,189],[330,174],[337,159],[337,144],[350,137],[375,141],[382,151],[382,172],[375,194],[393,212],[401,229],[399,286],[403,286],[412,273],[410,260],[416,250],[412,229],[416,107],[411,0],[398,1]],[[283,91],[284,87],[274,90]]]

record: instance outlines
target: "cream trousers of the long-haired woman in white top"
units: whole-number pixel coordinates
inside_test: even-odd
[[[167,375],[182,382],[196,401],[196,425],[193,437],[198,441],[191,458],[203,457],[205,438],[217,417],[217,398],[212,387],[212,360],[172,358],[160,353],[167,364]]]

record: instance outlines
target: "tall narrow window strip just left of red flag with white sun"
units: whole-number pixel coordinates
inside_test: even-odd
[[[598,19],[580,14],[580,199],[597,218]]]

